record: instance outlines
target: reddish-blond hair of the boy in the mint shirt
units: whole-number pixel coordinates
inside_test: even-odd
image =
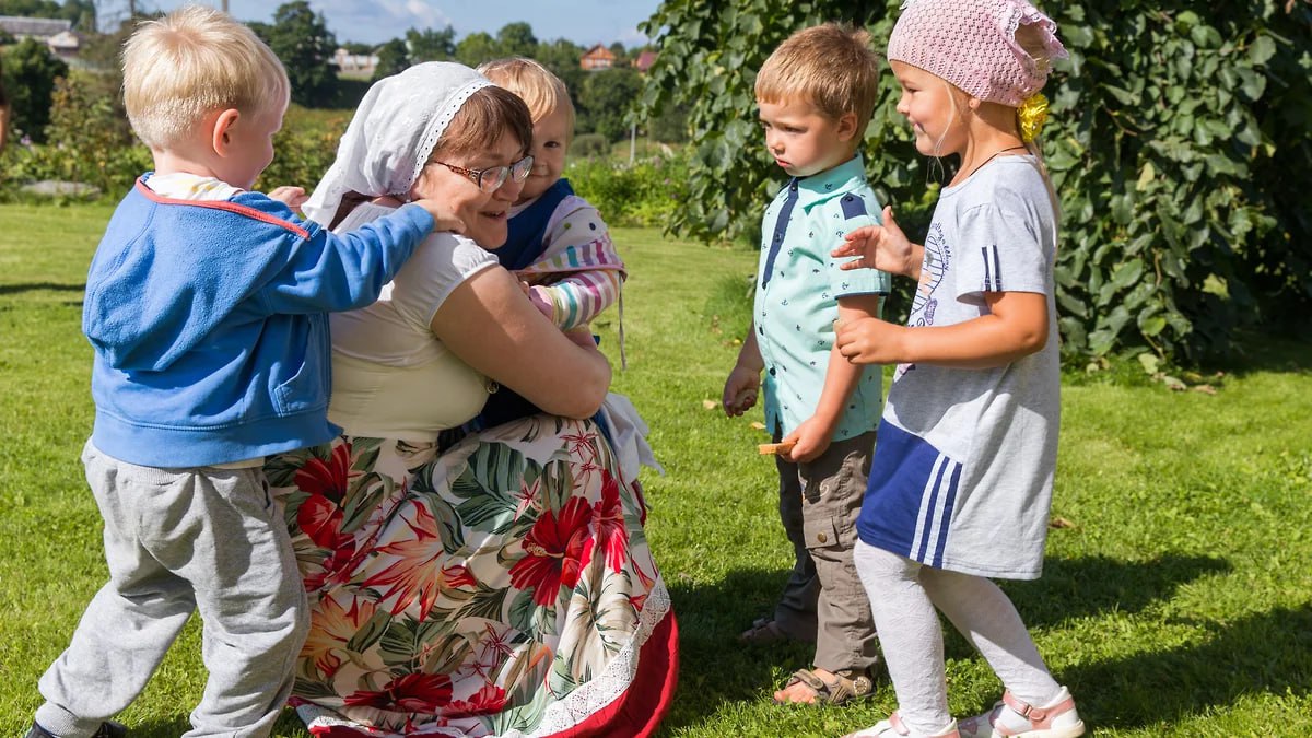
[[[870,34],[838,24],[824,24],[790,35],[756,75],[756,98],[762,102],[808,102],[837,121],[857,117],[857,141],[875,110],[879,56]]]

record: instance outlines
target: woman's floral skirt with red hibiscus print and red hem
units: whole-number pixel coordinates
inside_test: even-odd
[[[597,425],[341,437],[266,466],[310,596],[293,696],[320,737],[647,735],[677,632],[636,481]]]

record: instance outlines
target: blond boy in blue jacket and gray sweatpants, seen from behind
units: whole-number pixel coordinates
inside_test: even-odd
[[[336,236],[249,192],[287,106],[277,56],[224,13],[142,24],[123,98],[155,169],[87,277],[96,423],[83,450],[109,582],[41,678],[28,738],[119,737],[199,609],[209,680],[188,737],[262,737],[291,689],[304,590],[265,454],[321,444],[327,311],[363,307],[433,230],[433,202]],[[297,200],[299,190],[285,190]]]

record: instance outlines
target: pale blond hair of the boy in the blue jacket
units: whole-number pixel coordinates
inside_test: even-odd
[[[144,21],[123,45],[123,105],[152,150],[176,146],[211,110],[286,105],[290,89],[278,56],[214,8],[186,5]]]

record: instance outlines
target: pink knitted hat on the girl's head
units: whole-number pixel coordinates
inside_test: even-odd
[[[1048,58],[1065,58],[1057,25],[1026,0],[908,0],[888,38],[888,60],[943,77],[971,97],[1019,108],[1043,88],[1047,67],[1015,42],[1039,24]]]

